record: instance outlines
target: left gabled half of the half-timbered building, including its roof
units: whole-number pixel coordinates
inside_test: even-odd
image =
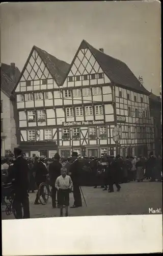
[[[59,87],[69,65],[34,46],[26,60],[13,95],[16,97],[19,146],[26,156],[52,157],[62,125]]]

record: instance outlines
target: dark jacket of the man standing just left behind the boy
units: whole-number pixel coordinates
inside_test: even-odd
[[[49,177],[51,186],[55,186],[56,179],[61,175],[62,164],[59,161],[53,161],[49,164]]]

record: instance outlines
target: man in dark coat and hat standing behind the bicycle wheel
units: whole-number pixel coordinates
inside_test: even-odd
[[[38,162],[37,166],[36,166],[36,176],[35,176],[35,181],[36,181],[36,185],[37,188],[39,188],[39,185],[42,182],[46,182],[46,175],[48,174],[47,172],[47,168],[46,165],[44,163],[45,160],[45,156],[41,156],[40,157],[40,162]],[[45,197],[42,196],[44,201],[46,201]],[[37,191],[37,195],[36,195],[36,199],[35,199],[35,204],[39,204],[39,194]]]

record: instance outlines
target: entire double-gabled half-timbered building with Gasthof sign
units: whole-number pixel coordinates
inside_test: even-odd
[[[14,92],[26,155],[154,150],[150,93],[124,62],[85,40],[71,65],[34,46]]]

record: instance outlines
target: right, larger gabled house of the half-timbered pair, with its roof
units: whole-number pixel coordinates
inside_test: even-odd
[[[61,87],[59,152],[87,156],[147,155],[154,150],[149,92],[127,65],[80,44]],[[119,140],[114,141],[118,127]]]

